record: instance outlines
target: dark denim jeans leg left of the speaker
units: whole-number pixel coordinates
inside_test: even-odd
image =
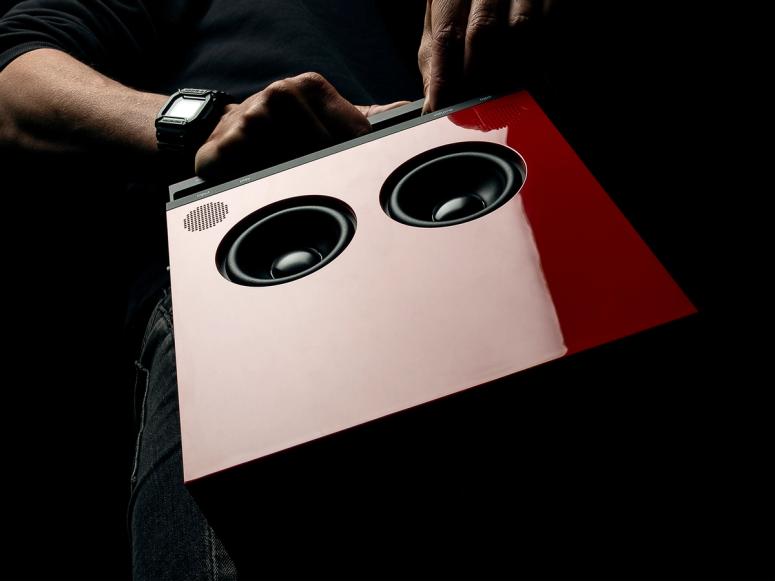
[[[234,563],[183,485],[169,289],[151,314],[135,365],[138,431],[128,510],[133,577],[236,579]]]

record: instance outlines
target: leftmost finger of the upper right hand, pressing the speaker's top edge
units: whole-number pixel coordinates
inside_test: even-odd
[[[430,70],[425,110],[439,109],[459,98],[470,7],[471,0],[430,2]]]

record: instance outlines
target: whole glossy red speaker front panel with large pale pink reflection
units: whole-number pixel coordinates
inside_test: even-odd
[[[206,201],[171,204],[186,481],[694,311],[527,93],[410,125]],[[396,219],[385,202],[385,187],[400,181],[394,172],[450,147],[495,152],[512,170],[477,180],[486,160],[437,165],[406,198],[435,196],[418,202],[431,209],[427,221],[449,200],[458,211],[489,189],[512,191],[452,225]],[[337,246],[327,226],[299,227],[333,236],[321,244],[334,255],[312,248],[312,234],[298,247],[274,234],[271,260],[257,238],[245,260],[260,276],[294,260],[303,269],[319,254],[322,265],[282,284],[230,278],[224,256],[236,254],[224,244],[243,234],[235,228],[295,198],[339,207],[352,226],[346,243]],[[206,227],[192,227],[199,205],[213,201],[217,219],[205,212]]]

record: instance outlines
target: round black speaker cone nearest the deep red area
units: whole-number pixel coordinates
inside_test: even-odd
[[[385,212],[409,226],[434,228],[475,220],[505,204],[522,187],[525,162],[489,142],[453,143],[423,152],[385,181]]]

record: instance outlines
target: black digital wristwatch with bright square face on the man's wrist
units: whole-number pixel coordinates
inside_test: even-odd
[[[156,117],[159,149],[194,151],[210,135],[228,103],[235,99],[223,91],[180,89]]]

